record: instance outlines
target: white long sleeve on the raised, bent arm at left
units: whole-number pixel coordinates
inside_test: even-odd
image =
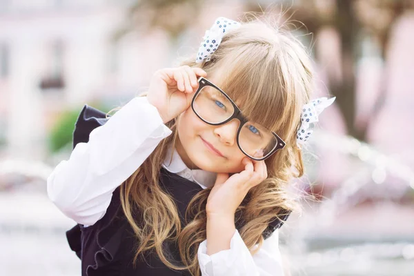
[[[47,180],[48,196],[78,224],[95,224],[105,215],[112,192],[171,133],[157,108],[146,97],[135,97],[56,166]]]

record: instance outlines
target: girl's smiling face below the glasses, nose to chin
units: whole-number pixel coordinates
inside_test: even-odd
[[[177,152],[188,168],[210,172],[241,172],[246,157],[237,146],[239,120],[221,126],[201,121],[192,108],[183,112],[178,121]],[[211,146],[213,146],[213,148]]]

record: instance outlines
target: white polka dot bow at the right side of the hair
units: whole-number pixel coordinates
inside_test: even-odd
[[[331,106],[336,97],[327,99],[326,97],[314,99],[310,103],[306,103],[302,109],[301,125],[297,130],[296,141],[297,146],[306,144],[313,132],[313,123],[319,121],[319,114],[324,111],[325,108]]]

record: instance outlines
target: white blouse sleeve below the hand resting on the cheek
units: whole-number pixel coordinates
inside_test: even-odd
[[[279,251],[279,230],[264,240],[254,256],[244,244],[239,231],[230,240],[230,249],[207,255],[207,240],[201,242],[197,252],[202,276],[283,276]]]

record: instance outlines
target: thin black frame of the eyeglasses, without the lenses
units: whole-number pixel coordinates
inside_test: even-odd
[[[276,141],[277,141],[277,144],[276,145],[277,146],[275,146],[275,148],[273,148],[273,150],[270,150],[270,152],[268,153],[268,155],[266,155],[266,157],[262,157],[262,158],[250,157],[250,155],[248,155],[246,152],[244,152],[244,150],[242,149],[242,147],[239,144],[239,135],[240,135],[240,132],[242,131],[242,127],[248,122],[248,119],[246,119],[246,117],[243,115],[242,110],[240,110],[240,108],[236,105],[236,103],[232,99],[230,99],[230,97],[228,97],[228,95],[226,94],[226,92],[224,92],[223,90],[221,90],[221,88],[219,88],[218,86],[216,86],[214,83],[212,83],[208,79],[206,79],[204,77],[199,77],[198,83],[199,83],[199,87],[197,88],[197,91],[195,91],[195,94],[193,96],[193,100],[191,101],[191,108],[193,109],[193,112],[195,113],[195,115],[197,115],[197,117],[199,117],[199,119],[201,119],[201,121],[204,121],[206,124],[209,124],[211,126],[221,126],[221,125],[224,125],[224,124],[228,123],[229,121],[231,121],[233,119],[238,119],[239,122],[240,122],[240,124],[239,124],[239,128],[237,129],[236,141],[237,141],[237,146],[239,146],[239,149],[242,150],[242,152],[244,153],[244,155],[246,155],[247,157],[249,157],[251,159],[254,159],[255,161],[262,161],[264,159],[268,159],[277,150],[281,150],[281,149],[283,149],[286,146],[285,141],[283,141],[283,139],[280,138],[279,135],[277,135],[272,130],[268,130],[276,138]],[[203,119],[197,113],[197,111],[194,108],[194,102],[195,102],[195,99],[197,99],[197,95],[206,86],[212,86],[213,88],[219,90],[221,92],[221,94],[224,95],[224,97],[226,97],[226,99],[228,99],[228,101],[230,101],[230,103],[233,105],[233,110],[234,110],[233,111],[233,115],[231,115],[230,117],[228,117],[228,119],[222,121],[221,123],[211,123],[209,121],[206,121],[205,119]]]

